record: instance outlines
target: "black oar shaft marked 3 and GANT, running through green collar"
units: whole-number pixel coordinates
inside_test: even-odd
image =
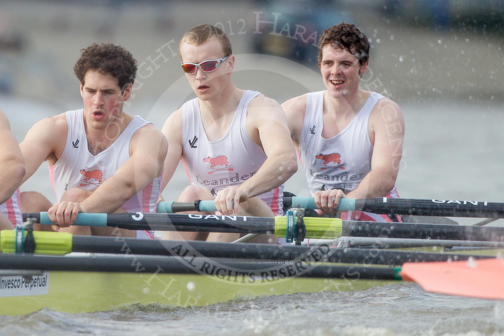
[[[31,214],[23,214],[31,216]],[[84,214],[88,215],[88,214]],[[94,215],[94,214],[90,214]],[[92,225],[92,223],[89,223]],[[275,233],[275,218],[181,214],[113,214],[107,226],[130,230],[224,233]],[[307,227],[307,230],[310,230]],[[341,236],[504,241],[504,228],[447,224],[344,221]],[[335,238],[339,237],[336,233]]]

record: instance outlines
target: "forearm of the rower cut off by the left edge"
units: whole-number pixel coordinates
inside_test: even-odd
[[[25,175],[25,165],[22,157],[12,155],[3,158],[1,162],[0,181],[2,181],[2,188],[0,189],[0,204],[12,196]]]

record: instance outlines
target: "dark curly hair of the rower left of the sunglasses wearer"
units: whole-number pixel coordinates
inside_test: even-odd
[[[102,75],[117,78],[117,84],[123,92],[125,86],[135,82],[137,60],[128,50],[112,43],[93,43],[81,49],[81,57],[74,65],[74,73],[84,85],[84,76],[89,70]]]

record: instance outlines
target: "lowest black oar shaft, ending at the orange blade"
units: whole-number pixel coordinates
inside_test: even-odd
[[[223,276],[233,282],[268,283],[283,278],[342,278],[399,280],[389,267],[328,266],[324,264],[243,262],[182,259],[166,256],[43,256],[6,254],[0,258],[0,270],[44,270],[65,272],[121,272],[162,274],[201,274]],[[244,277],[249,277],[245,280]]]

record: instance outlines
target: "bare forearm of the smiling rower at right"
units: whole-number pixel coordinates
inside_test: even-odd
[[[359,186],[347,194],[347,197],[356,199],[383,197],[394,188],[396,176],[388,169],[372,169],[359,183]]]

